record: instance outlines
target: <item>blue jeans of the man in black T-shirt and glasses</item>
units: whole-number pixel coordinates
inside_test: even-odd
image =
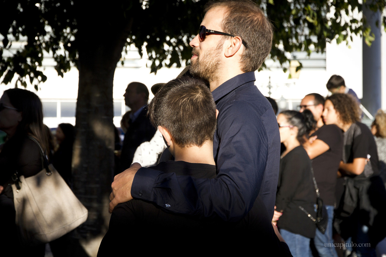
[[[328,215],[326,232],[323,234],[318,229],[315,232],[314,244],[320,257],[338,257],[332,238],[332,222],[334,219],[334,206],[325,205]],[[316,207],[315,207],[316,212]],[[312,254],[310,254],[312,256]]]

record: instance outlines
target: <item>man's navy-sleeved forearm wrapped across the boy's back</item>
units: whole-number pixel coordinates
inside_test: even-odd
[[[146,186],[142,185],[144,181],[148,182]],[[242,193],[228,176],[196,179],[141,168],[134,177],[132,196],[175,213],[236,221],[252,208],[257,194]],[[253,199],[252,204],[249,199]]]

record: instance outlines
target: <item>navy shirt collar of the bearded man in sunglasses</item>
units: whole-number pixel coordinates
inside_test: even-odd
[[[212,95],[215,102],[217,102],[220,98],[232,92],[237,87],[244,85],[245,83],[256,81],[255,72],[247,72],[239,74],[232,79],[229,79],[218,86],[215,90],[213,90]]]

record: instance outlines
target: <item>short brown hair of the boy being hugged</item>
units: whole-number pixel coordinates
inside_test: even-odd
[[[166,128],[180,147],[213,141],[216,104],[204,81],[180,77],[162,86],[149,103],[149,119]]]

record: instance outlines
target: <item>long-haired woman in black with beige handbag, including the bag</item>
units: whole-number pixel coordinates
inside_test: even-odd
[[[2,251],[6,253],[44,256],[44,243],[87,218],[85,207],[53,166],[48,166],[46,153],[50,151],[43,126],[42,103],[36,94],[18,88],[4,91],[0,98],[0,130],[7,133],[7,141],[0,152],[0,224],[5,246]],[[64,188],[60,186],[63,184]],[[80,215],[63,214],[58,207],[63,198],[75,199],[69,206],[63,205],[71,210],[78,208]]]

